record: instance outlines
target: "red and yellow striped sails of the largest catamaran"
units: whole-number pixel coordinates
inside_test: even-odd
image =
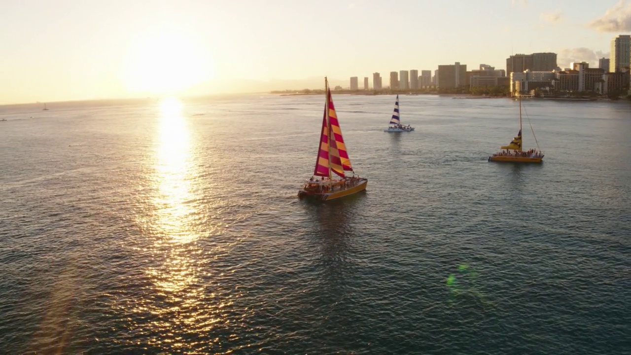
[[[344,171],[352,171],[351,162],[348,159],[348,152],[346,152],[342,130],[339,128],[338,115],[333,105],[331,90],[327,87],[327,99],[324,105],[324,117],[322,117],[320,149],[315,162],[314,175],[330,178],[331,172],[333,172],[344,177]]]

